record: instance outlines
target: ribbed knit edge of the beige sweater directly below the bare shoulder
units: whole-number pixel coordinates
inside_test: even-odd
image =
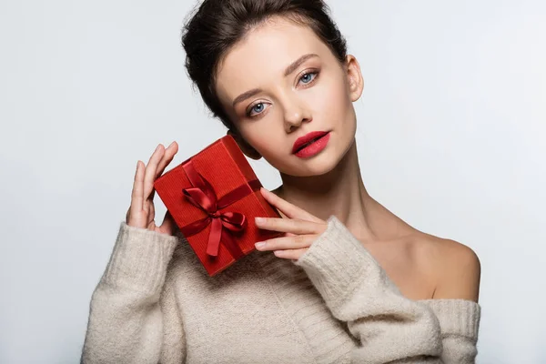
[[[480,305],[467,299],[423,299],[438,320],[442,335],[460,335],[478,339],[480,329]]]

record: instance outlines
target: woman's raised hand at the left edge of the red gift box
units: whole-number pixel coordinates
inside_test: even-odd
[[[172,235],[175,227],[173,217],[167,213],[160,226],[156,225],[154,208],[154,181],[163,174],[163,171],[177,154],[177,142],[172,142],[167,149],[161,144],[157,146],[154,154],[144,162],[136,162],[135,183],[131,193],[131,206],[127,210],[126,224],[131,227],[147,228],[158,233]]]

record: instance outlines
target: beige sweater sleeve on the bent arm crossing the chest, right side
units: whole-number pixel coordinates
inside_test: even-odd
[[[430,304],[405,298],[337,217],[329,217],[326,231],[295,264],[359,341],[352,362],[441,363],[450,355],[442,357],[440,320]]]

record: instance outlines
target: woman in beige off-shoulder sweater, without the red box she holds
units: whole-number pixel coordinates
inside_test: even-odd
[[[248,157],[284,232],[208,277],[153,182],[177,153],[138,161],[131,206],[91,300],[84,362],[470,363],[480,262],[410,227],[366,191],[355,144],[359,63],[319,0],[206,0],[187,70]]]

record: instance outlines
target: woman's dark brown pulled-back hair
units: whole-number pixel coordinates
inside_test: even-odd
[[[184,25],[182,46],[187,74],[213,116],[235,131],[217,96],[217,68],[227,51],[249,30],[273,16],[310,26],[339,62],[344,62],[346,40],[329,12],[322,0],[204,0]]]

